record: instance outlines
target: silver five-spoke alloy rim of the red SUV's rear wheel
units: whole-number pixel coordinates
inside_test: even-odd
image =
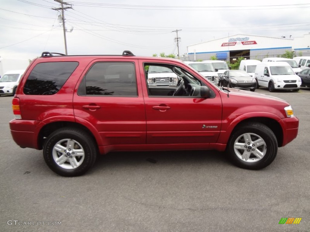
[[[65,169],[74,169],[80,166],[85,157],[81,144],[72,139],[58,141],[53,147],[53,159],[57,165]]]

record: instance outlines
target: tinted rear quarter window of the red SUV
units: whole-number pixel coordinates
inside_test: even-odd
[[[78,62],[37,64],[26,80],[24,94],[53,95],[57,93],[77,67]]]

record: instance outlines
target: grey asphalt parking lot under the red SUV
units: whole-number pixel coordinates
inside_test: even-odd
[[[310,231],[310,89],[256,92],[289,101],[300,120],[298,137],[263,170],[216,151],[131,152],[74,178],[15,144],[12,96],[0,97],[0,231]],[[302,219],[279,224],[290,217]]]

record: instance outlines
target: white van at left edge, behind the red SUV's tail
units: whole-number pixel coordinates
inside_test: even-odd
[[[0,95],[15,94],[25,70],[7,71],[0,79]]]

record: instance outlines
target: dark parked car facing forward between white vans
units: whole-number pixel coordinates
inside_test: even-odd
[[[254,92],[256,89],[256,80],[246,71],[228,70],[221,76],[219,85],[229,88],[249,89]]]

